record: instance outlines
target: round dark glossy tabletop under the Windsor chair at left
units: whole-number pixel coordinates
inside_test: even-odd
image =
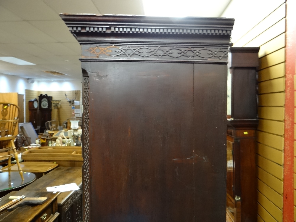
[[[24,180],[20,177],[20,173],[17,171],[10,172],[0,172],[0,197],[8,194],[13,190],[20,190],[28,184],[36,180],[34,173],[24,172]]]

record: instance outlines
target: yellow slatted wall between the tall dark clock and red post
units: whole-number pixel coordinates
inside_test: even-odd
[[[234,43],[234,47],[260,46],[258,221],[265,222],[283,221],[285,17],[284,3]]]

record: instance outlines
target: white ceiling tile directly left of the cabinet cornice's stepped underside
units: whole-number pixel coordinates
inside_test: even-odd
[[[30,21],[30,24],[56,39],[58,42],[77,42],[75,37],[69,32],[65,22],[62,20]],[[77,44],[79,43],[77,42]]]

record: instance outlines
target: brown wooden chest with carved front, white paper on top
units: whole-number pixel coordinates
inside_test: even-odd
[[[59,222],[79,222],[82,221],[81,167],[58,167],[22,190],[46,191],[46,187],[70,183],[76,183],[80,190],[62,192],[57,198]]]

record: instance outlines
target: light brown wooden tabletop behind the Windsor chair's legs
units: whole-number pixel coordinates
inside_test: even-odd
[[[23,172],[31,172],[36,175],[36,178],[44,176],[53,169],[58,167],[56,163],[44,163],[44,162],[22,162],[20,163]],[[7,172],[8,166],[3,167],[0,171]],[[12,164],[11,171],[18,171],[17,165]]]

